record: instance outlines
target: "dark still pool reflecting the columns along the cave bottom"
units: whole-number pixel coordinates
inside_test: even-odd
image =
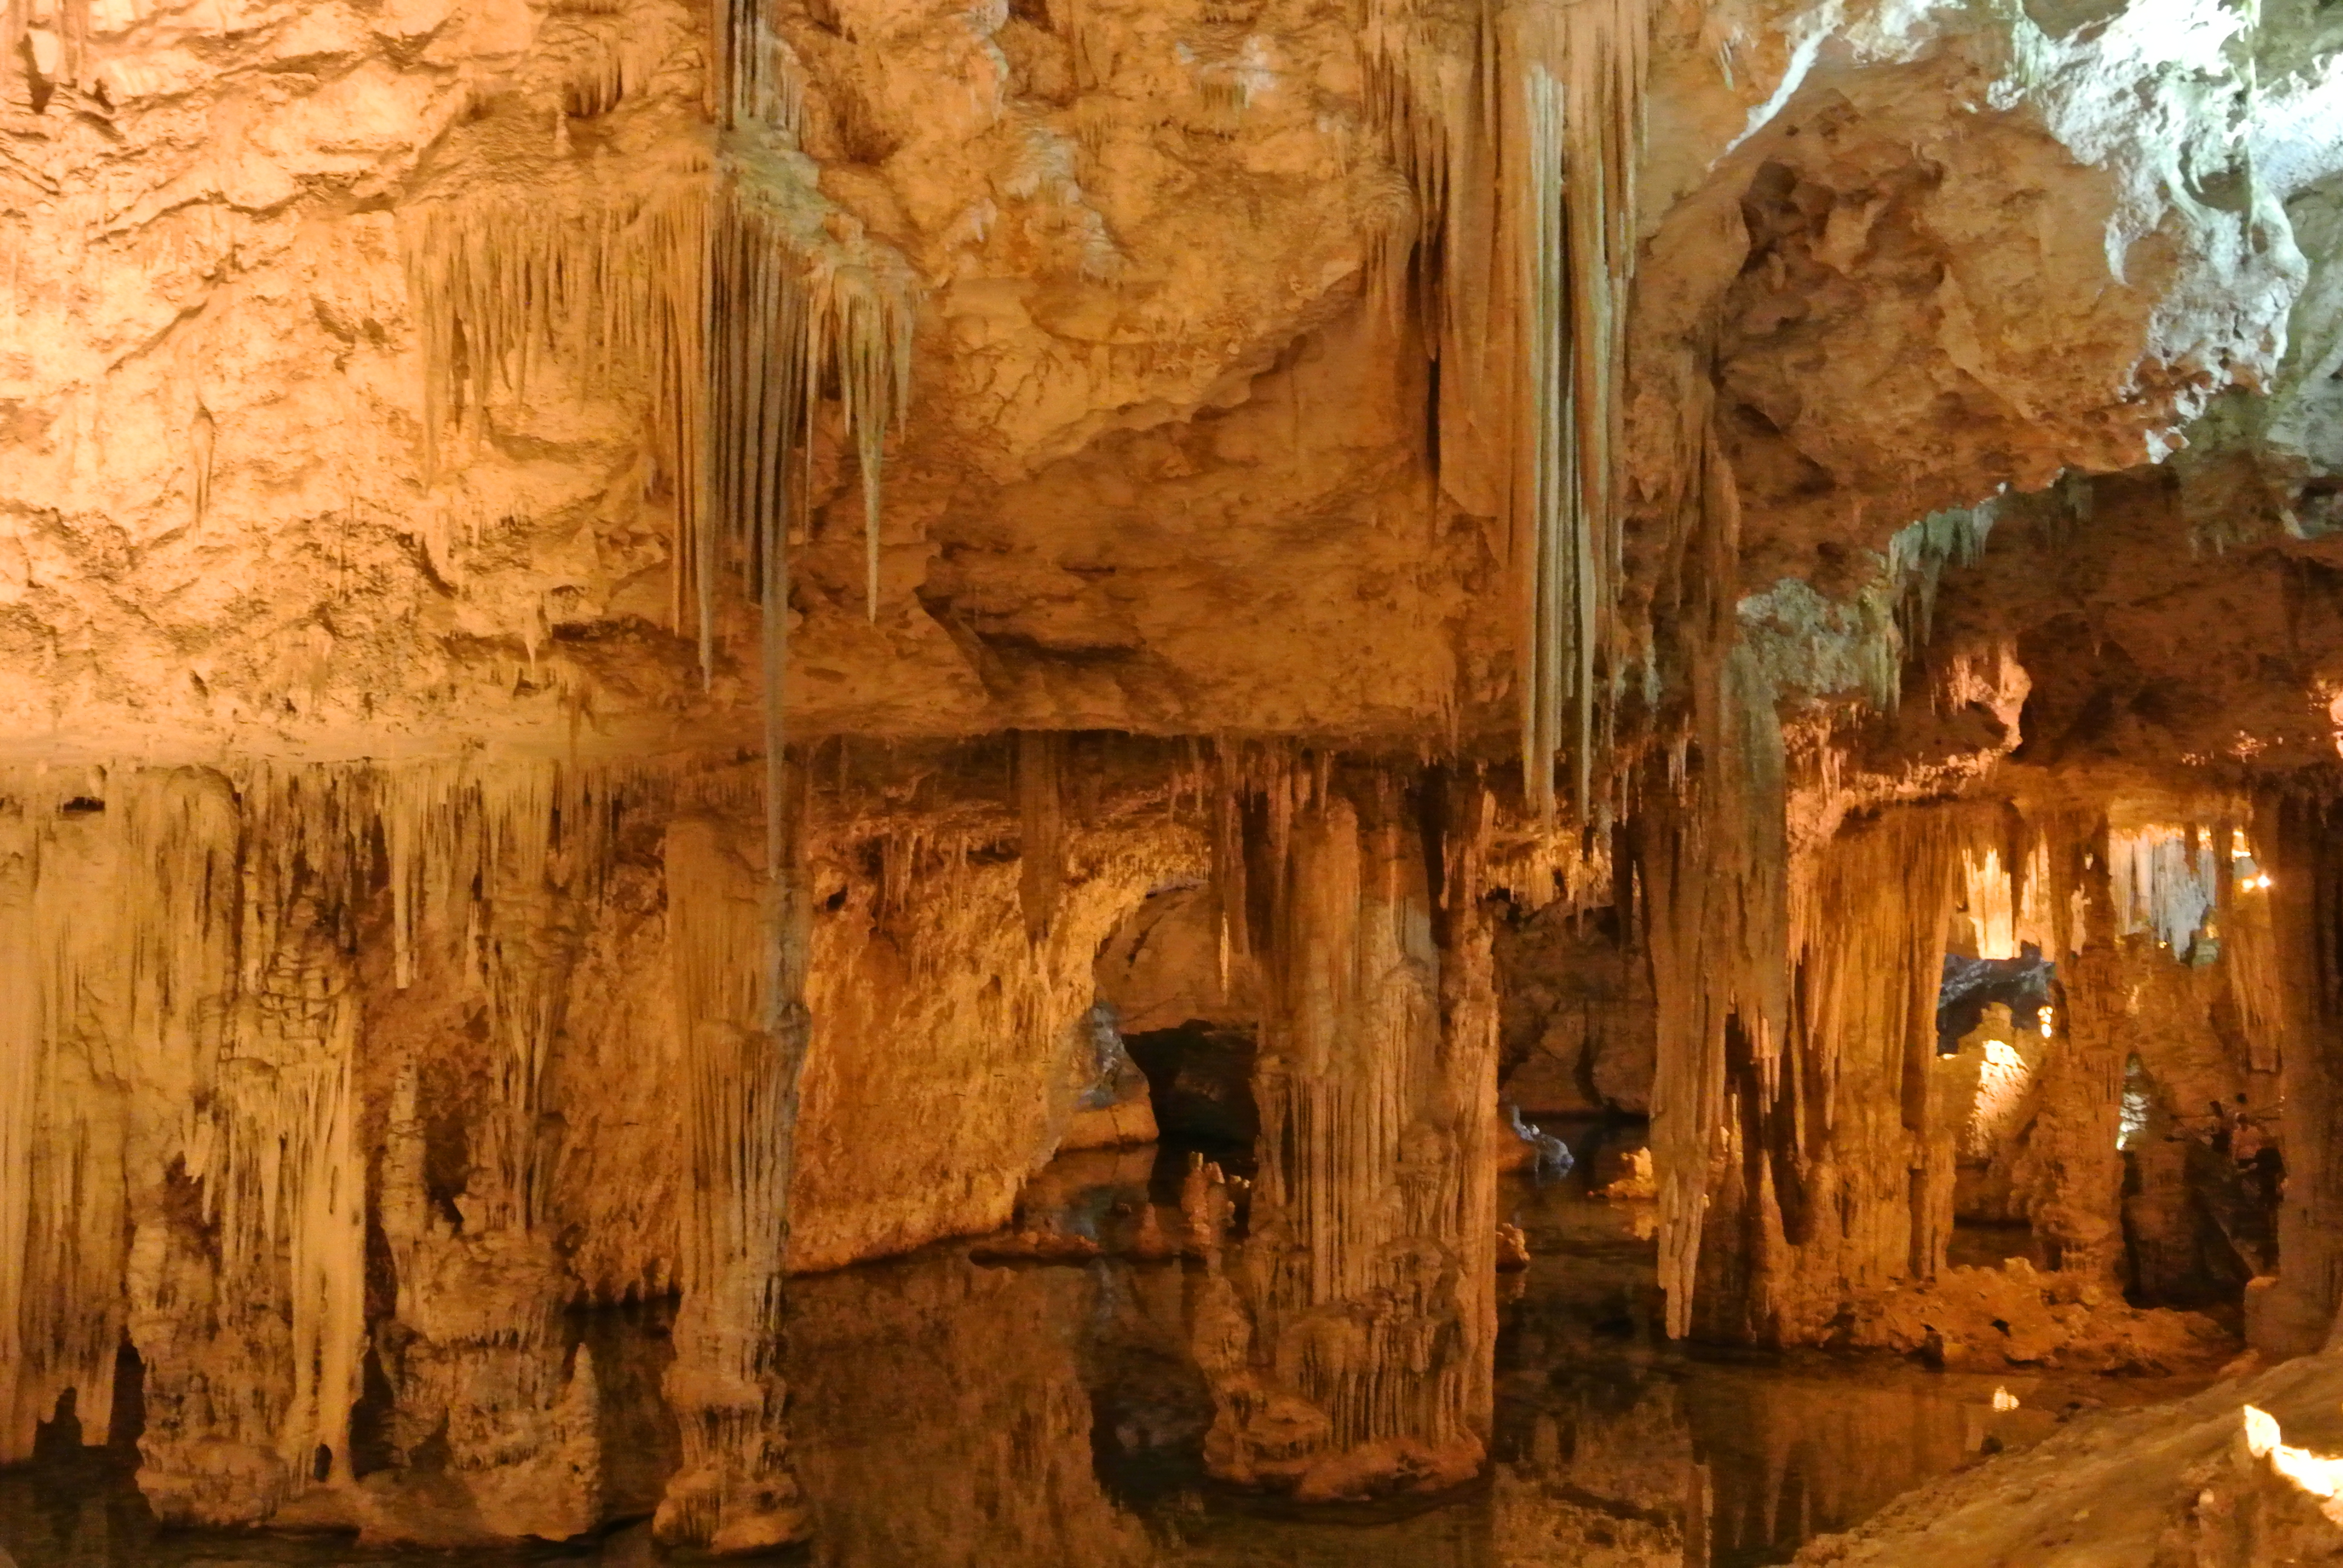
[[[1146,1151],[1092,1153],[1036,1184],[1026,1221],[1101,1238],[1099,1259],[977,1261],[961,1242],[797,1280],[790,1437],[815,1535],[778,1561],[1746,1568],[1783,1563],[1903,1491],[2038,1441],[2076,1409],[2205,1383],[1671,1345],[1654,1327],[1649,1205],[1591,1198],[1584,1174],[1549,1186],[1504,1177],[1500,1212],[1523,1226],[1532,1266],[1500,1280],[1490,1474],[1429,1500],[1272,1502],[1216,1486],[1202,1467],[1211,1399],[1188,1352],[1197,1266],[1115,1256],[1115,1238],[1150,1186],[1164,1195],[1174,1167]],[[609,1512],[635,1523],[497,1552],[162,1533],[127,1448],[70,1451],[0,1472],[0,1568],[665,1561],[642,1523],[675,1444],[654,1397],[663,1313],[579,1320],[607,1369]]]

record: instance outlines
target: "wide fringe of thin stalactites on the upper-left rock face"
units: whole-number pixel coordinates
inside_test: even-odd
[[[644,396],[675,497],[675,628],[715,666],[717,581],[785,537],[813,401],[834,384],[865,502],[867,614],[879,616],[886,436],[909,408],[918,286],[900,255],[839,241],[797,134],[804,80],[757,7],[726,7],[715,80],[731,127],[670,188],[574,188],[422,202],[403,220],[424,335],[424,469],[450,424],[567,370],[595,396]],[[785,591],[776,560],[776,579]]]

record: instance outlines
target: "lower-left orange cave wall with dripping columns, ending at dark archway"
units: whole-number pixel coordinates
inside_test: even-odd
[[[68,1390],[105,1441],[129,1345],[166,1519],[569,1538],[614,1460],[565,1308],[679,1296],[635,1502],[794,1535],[792,1219],[808,1266],[1010,1219],[1092,1088],[1099,945],[1209,865],[1207,769],[832,743],[778,834],[738,762],[7,773],[5,1455]]]

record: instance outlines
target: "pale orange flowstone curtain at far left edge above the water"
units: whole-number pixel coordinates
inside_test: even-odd
[[[0,1463],[68,1388],[105,1441],[127,1205],[211,1080],[234,952],[218,780],[68,778],[0,773]]]

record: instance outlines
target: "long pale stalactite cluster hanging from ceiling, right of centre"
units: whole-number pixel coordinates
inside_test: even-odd
[[[1642,652],[1619,598],[1647,47],[1642,0],[1378,0],[1361,33],[1373,110],[1415,192],[1441,483],[1507,523],[1523,778],[1546,816],[1563,752],[1589,809],[1603,698]]]

